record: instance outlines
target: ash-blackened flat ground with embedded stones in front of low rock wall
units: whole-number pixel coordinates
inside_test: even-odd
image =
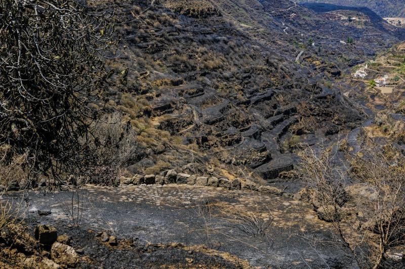
[[[7,195],[12,198],[18,193]],[[336,245],[322,244],[314,250],[313,242],[305,238],[330,241],[332,228],[317,219],[310,205],[291,198],[188,185],[87,186],[80,190],[79,197],[79,206],[72,207],[70,192],[32,192],[26,220],[32,225],[43,223],[65,229],[71,223],[69,208],[73,208],[73,213],[78,211],[82,216],[79,227],[109,231],[122,239],[206,245],[260,267],[305,267],[303,259],[314,267],[351,266],[344,253],[336,251]],[[37,210],[52,213],[38,216]],[[264,230],[250,226],[252,217]],[[97,251],[83,239],[77,244],[86,253]],[[328,264],[319,256],[328,257]],[[118,267],[127,266],[126,260],[115,262]]]

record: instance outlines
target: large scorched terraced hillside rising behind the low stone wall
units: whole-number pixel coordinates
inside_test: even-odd
[[[360,124],[334,83],[401,39],[368,14],[342,20],[351,11],[316,14],[287,0],[107,4],[97,9],[116,9],[123,40],[111,64],[128,70],[107,109],[139,133],[130,173],[192,167],[272,180],[294,168],[299,143]]]

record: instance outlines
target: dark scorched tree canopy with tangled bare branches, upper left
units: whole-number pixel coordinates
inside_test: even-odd
[[[71,0],[0,2],[0,143],[30,171],[80,172],[116,41],[106,14]],[[97,144],[97,143],[96,143]]]

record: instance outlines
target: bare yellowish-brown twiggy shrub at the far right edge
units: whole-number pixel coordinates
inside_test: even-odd
[[[388,250],[405,246],[405,158],[390,145],[365,153],[365,158],[352,158],[352,177],[374,191],[357,206],[369,218],[365,226],[378,235],[372,257],[373,268],[378,268]]]

